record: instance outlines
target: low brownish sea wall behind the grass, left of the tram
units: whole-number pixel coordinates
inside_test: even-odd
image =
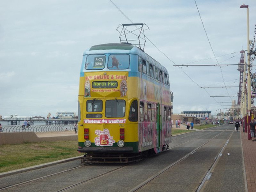
[[[32,142],[77,141],[74,136],[38,137],[35,132],[1,132],[0,144],[21,144]]]

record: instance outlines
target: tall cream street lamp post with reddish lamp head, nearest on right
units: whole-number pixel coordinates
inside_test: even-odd
[[[247,60],[248,60],[248,72],[247,72],[247,124],[248,124],[248,140],[251,140],[251,133],[250,130],[250,122],[251,122],[251,75],[250,75],[250,40],[249,40],[249,6],[248,5],[241,5],[240,8],[246,8],[247,10]]]

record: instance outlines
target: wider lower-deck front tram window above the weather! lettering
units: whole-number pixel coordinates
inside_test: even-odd
[[[124,100],[107,100],[105,107],[106,117],[124,117],[125,101]]]

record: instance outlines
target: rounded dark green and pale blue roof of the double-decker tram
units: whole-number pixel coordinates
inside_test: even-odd
[[[89,49],[85,50],[83,55],[95,54],[95,53],[100,54],[102,53],[102,50],[105,50],[105,53],[113,53],[113,50],[115,50],[115,53],[137,54],[139,56],[142,56],[143,58],[147,58],[149,62],[153,64],[157,64],[158,68],[161,68],[164,72],[168,74],[166,68],[162,64],[158,63],[158,61],[154,60],[154,58],[149,56],[143,50],[128,43],[107,43],[107,44],[94,45],[94,46],[91,46]]]

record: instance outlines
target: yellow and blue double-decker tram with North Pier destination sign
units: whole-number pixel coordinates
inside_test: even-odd
[[[136,46],[87,49],[78,96],[81,162],[130,162],[168,149],[170,98],[166,68]]]

